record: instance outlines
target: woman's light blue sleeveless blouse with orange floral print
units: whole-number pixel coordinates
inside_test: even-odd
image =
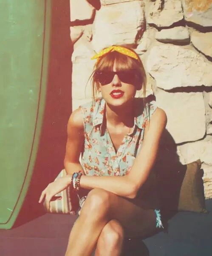
[[[142,147],[145,124],[157,108],[155,101],[147,103],[146,106],[143,106],[143,99],[141,98],[135,98],[135,101],[137,113],[132,132],[124,136],[117,152],[105,127],[105,100],[99,98],[96,99],[94,105],[93,102],[89,102],[80,106],[85,131],[81,165],[85,175],[122,176],[130,172]],[[147,186],[146,184],[142,186],[141,193],[138,193],[137,197],[148,208],[158,208],[158,204],[155,203],[157,193],[153,189],[152,182],[148,182],[148,180],[152,179],[147,179]]]

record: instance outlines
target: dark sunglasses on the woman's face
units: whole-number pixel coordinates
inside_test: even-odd
[[[141,83],[141,75],[137,70],[124,70],[124,71],[96,71],[94,73],[94,79],[99,81],[102,85],[110,84],[113,81],[113,77],[117,75],[119,79],[126,84],[137,85]]]

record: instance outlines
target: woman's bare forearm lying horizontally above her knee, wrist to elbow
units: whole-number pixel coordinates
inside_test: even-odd
[[[105,189],[116,195],[126,198],[134,198],[136,196],[133,182],[130,181],[128,175],[124,176],[86,176],[80,179],[80,187],[84,189]]]

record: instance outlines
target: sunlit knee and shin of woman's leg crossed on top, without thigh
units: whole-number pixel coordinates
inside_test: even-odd
[[[65,256],[91,255],[103,227],[109,221],[108,211],[109,193],[103,189],[92,189],[71,229]]]

